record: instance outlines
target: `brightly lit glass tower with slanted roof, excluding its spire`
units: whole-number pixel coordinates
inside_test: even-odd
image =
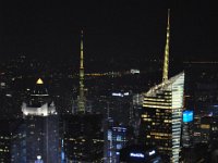
[[[141,140],[157,147],[164,160],[179,162],[184,73],[164,80],[144,95]]]

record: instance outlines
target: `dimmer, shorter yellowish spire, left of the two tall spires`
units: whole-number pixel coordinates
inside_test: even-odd
[[[83,30],[81,30],[81,64],[80,64],[80,96],[78,96],[78,113],[85,113],[84,98],[84,64],[83,64]]]

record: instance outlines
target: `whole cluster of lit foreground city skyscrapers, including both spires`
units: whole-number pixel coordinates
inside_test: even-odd
[[[109,98],[102,96],[98,99],[98,106],[92,104],[86,97],[83,32],[81,35],[78,96],[76,99],[68,98],[71,101],[70,109],[61,112],[57,105],[61,101],[55,101],[44,80],[38,78],[34,88],[22,96],[21,116],[1,120],[0,162],[217,161],[217,147],[214,142],[218,141],[218,85],[213,82],[218,79],[218,75],[210,76],[211,85],[193,85],[189,66],[184,72],[168,77],[169,11],[160,84],[142,93],[111,90]],[[137,75],[140,71],[132,70],[131,73]],[[186,76],[191,85],[185,83]],[[202,78],[208,78],[206,72]],[[1,87],[3,89],[5,85],[1,83]],[[184,88],[189,88],[189,91]],[[203,151],[206,149],[206,156],[191,155],[196,153],[196,147]]]

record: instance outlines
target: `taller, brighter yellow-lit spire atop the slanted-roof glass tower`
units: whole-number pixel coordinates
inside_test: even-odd
[[[168,79],[169,41],[170,41],[170,9],[168,9],[168,18],[167,18],[167,41],[166,41],[166,46],[165,46],[165,61],[164,61],[164,68],[162,68],[162,82]]]

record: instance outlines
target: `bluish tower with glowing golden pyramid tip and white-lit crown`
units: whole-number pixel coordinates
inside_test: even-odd
[[[12,156],[14,163],[58,163],[59,118],[44,82],[39,78],[31,97],[22,104],[23,121],[13,131]]]

